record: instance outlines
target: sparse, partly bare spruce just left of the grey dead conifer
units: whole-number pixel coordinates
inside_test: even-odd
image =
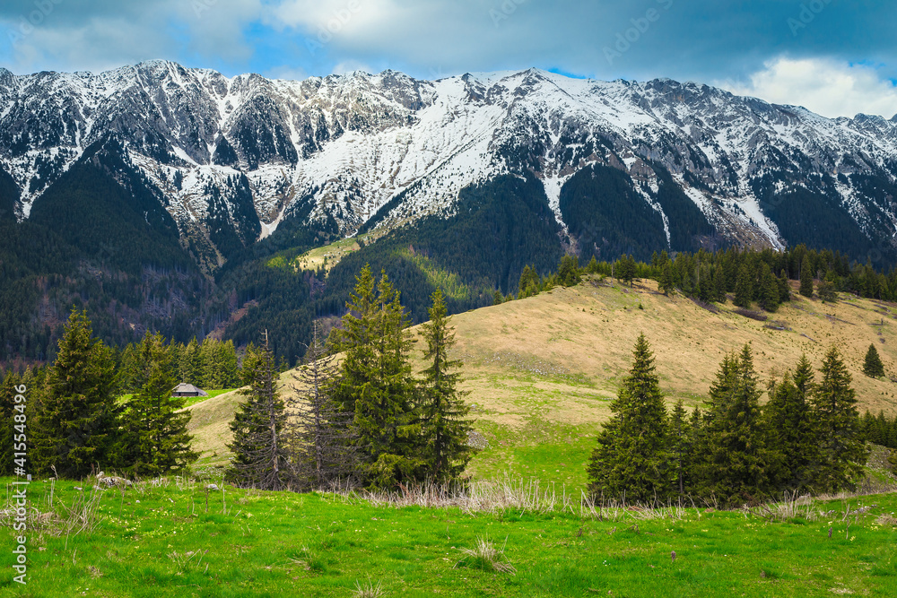
[[[284,490],[292,485],[295,470],[290,461],[284,427],[287,413],[277,390],[274,354],[265,344],[248,353],[245,362],[248,389],[241,391],[246,402],[231,421],[233,453],[228,478],[242,486],[261,490]]]

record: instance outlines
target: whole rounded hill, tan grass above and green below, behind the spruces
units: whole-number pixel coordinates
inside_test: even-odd
[[[630,368],[640,332],[656,353],[669,403],[679,397],[690,406],[701,403],[719,361],[745,342],[753,347],[763,382],[780,377],[802,352],[818,367],[836,345],[853,375],[861,412],[897,412],[894,383],[861,372],[869,343],[875,343],[886,371],[897,376],[897,305],[846,295],[823,304],[796,296],[767,322],[732,310],[729,303],[712,313],[690,299],[664,297],[650,281],[630,289],[596,279],[453,316],[468,402],[488,443],[472,472],[532,475],[580,487],[595,434]],[[419,369],[421,355],[417,342]],[[222,394],[190,408],[201,464],[225,458],[227,422],[238,400]]]

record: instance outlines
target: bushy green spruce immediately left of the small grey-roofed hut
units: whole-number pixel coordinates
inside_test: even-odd
[[[140,476],[159,476],[181,470],[199,454],[190,449],[187,432],[191,413],[180,411],[185,399],[172,397],[178,383],[161,334],[144,336],[148,348],[144,384],[127,403],[122,416],[124,465]]]

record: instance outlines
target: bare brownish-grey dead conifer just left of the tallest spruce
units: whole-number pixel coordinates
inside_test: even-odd
[[[327,354],[317,322],[304,361],[292,374],[296,397],[288,408],[299,485],[313,489],[354,486],[359,465],[353,446],[354,414],[340,411],[333,401],[339,366],[335,356]]]

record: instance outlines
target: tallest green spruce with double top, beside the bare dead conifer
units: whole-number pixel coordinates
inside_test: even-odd
[[[335,338],[336,350],[344,351],[335,401],[341,411],[355,414],[365,482],[386,489],[417,481],[424,461],[405,309],[385,272],[374,295],[368,266],[361,270],[346,308],[343,329]]]

